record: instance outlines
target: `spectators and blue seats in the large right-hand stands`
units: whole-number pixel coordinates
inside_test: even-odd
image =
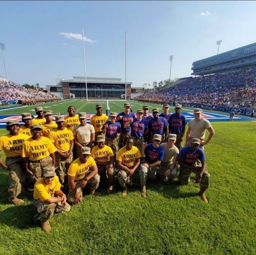
[[[135,100],[253,108],[256,105],[256,67],[186,79],[176,86],[144,93]]]

